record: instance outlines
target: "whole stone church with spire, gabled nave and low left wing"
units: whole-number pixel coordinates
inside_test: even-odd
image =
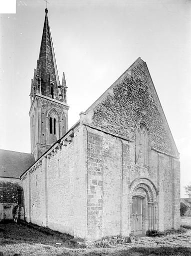
[[[0,151],[1,219],[17,206],[28,222],[88,239],[180,226],[179,153],[146,62],[68,129],[46,9],[30,96],[31,154]],[[14,185],[15,201],[5,193]]]

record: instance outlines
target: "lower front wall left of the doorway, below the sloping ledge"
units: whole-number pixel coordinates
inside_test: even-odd
[[[87,128],[88,238],[129,235],[129,142]]]

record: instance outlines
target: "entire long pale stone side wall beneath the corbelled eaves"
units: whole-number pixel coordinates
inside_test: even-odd
[[[22,177],[26,220],[75,236],[87,235],[85,128],[55,144]]]

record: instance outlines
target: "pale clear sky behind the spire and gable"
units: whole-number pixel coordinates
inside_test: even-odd
[[[180,153],[181,197],[191,182],[191,0],[48,0],[69,127],[139,56],[146,61]],[[46,2],[0,14],[0,148],[30,152],[30,89]]]

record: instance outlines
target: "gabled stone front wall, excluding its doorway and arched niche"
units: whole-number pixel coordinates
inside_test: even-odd
[[[130,230],[131,223],[129,219],[125,219],[124,215],[125,213],[130,213],[129,207],[131,207],[128,189],[129,184],[140,177],[150,180],[149,182],[156,189],[155,205],[149,204],[151,221],[155,221],[155,223],[152,222],[150,225],[159,230],[179,227],[179,154],[146,63],[141,58],[138,58],[84,112],[81,118],[86,125],[93,128],[88,135],[88,157],[92,158],[94,156],[95,159],[92,160],[93,163],[88,162],[88,175],[90,170],[91,172],[94,170],[93,175],[98,175],[97,167],[99,161],[101,161],[99,167],[103,168],[103,171],[99,174],[100,176],[98,175],[97,177],[97,180],[103,183],[103,187],[99,188],[99,190],[103,191],[102,193],[99,192],[95,196],[98,186],[91,185],[93,185],[93,180],[96,177],[91,176],[91,179],[88,179],[90,181],[88,196],[91,202],[89,209],[91,218],[94,219],[89,222],[90,233],[94,232],[95,237],[100,237],[101,235],[111,235],[112,233],[125,232],[127,229]],[[135,162],[136,129],[141,122],[148,129],[148,164],[143,164],[142,166]],[[123,147],[120,146],[117,139],[113,142],[112,135],[106,139],[106,133],[113,134],[121,138],[122,141],[123,138],[129,141],[128,149],[126,149],[128,160],[127,164],[125,164],[127,169],[125,174],[126,192],[123,191],[123,187],[125,187],[124,181],[121,183],[119,181],[120,178],[123,180],[121,161],[123,161],[125,150],[122,149]],[[98,140],[101,141],[101,144],[98,145],[99,147],[96,146]],[[92,154],[94,152],[95,154]],[[122,189],[122,195],[128,201],[126,212],[123,210],[120,189]],[[108,198],[113,198],[113,202],[108,201],[107,194]],[[103,210],[94,207],[98,205],[93,205],[98,203],[98,201],[95,202],[95,199],[100,200],[101,203],[102,197],[103,202],[100,207]],[[104,208],[104,204],[107,207]],[[145,210],[148,212],[148,208]],[[98,216],[100,216],[99,220]],[[88,217],[90,218],[90,216]],[[145,221],[148,223],[148,216],[146,216]],[[125,224],[126,227],[124,228]]]

